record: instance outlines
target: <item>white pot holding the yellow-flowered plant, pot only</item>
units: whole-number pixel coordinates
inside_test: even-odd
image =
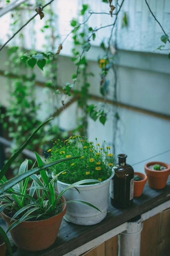
[[[95,205],[98,210],[86,206],[81,203],[68,203],[67,212],[64,215],[66,221],[72,222],[78,225],[93,225],[99,223],[106,217],[108,200],[109,200],[109,186],[111,177],[101,183],[96,183],[94,185],[79,185],[79,192],[75,188],[68,189],[64,193],[66,201],[69,200],[84,200]],[[61,181],[57,182],[58,191],[60,192],[63,188],[69,186],[70,184],[63,183]]]

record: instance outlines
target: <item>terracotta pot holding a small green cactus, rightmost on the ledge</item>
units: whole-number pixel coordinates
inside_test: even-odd
[[[150,170],[148,166],[154,164],[164,165],[167,169],[164,171]],[[166,181],[170,174],[170,165],[164,162],[148,162],[145,164],[145,173],[148,177],[148,185],[150,188],[162,189],[166,186]]]

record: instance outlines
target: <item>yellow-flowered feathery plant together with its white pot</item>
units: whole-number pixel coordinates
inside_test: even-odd
[[[114,176],[115,156],[111,153],[110,146],[105,143],[101,147],[100,143],[96,145],[88,142],[87,138],[80,135],[73,135],[64,141],[58,140],[53,148],[48,149],[49,157],[47,163],[60,159],[61,157],[70,158],[80,155],[81,157],[69,164],[59,164],[57,168],[50,168],[52,177],[59,172],[62,174],[58,180],[58,191],[62,191],[67,186],[82,179],[96,179],[100,183],[82,184],[71,188],[65,192],[66,200],[85,200],[94,204],[100,209],[89,208],[85,205],[75,203],[68,205],[64,219],[79,225],[93,225],[99,223],[106,217],[109,199],[110,180]]]

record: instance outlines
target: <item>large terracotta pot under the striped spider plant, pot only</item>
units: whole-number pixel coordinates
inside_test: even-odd
[[[56,192],[57,193],[57,192]],[[62,202],[66,202],[61,196]],[[1,202],[3,203],[3,202]],[[40,251],[50,247],[56,240],[62,218],[67,210],[67,204],[62,205],[63,211],[49,219],[39,221],[23,221],[10,230],[11,236],[16,246],[26,251]],[[9,227],[14,221],[4,212],[1,217]]]

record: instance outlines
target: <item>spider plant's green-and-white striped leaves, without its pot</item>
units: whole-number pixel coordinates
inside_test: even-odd
[[[43,166],[42,159],[37,153],[35,154],[38,165]],[[28,171],[28,161],[29,160],[26,159],[21,164],[19,174]],[[27,177],[25,181],[20,181],[17,185],[7,190],[3,195],[0,196],[2,198],[2,202],[5,202],[5,204],[0,206],[0,213],[5,209],[8,210],[8,213],[12,212],[11,225],[8,228],[7,232],[23,221],[27,221],[29,219],[33,219],[36,221],[44,220],[55,216],[62,211],[61,205],[65,203],[78,202],[100,211],[96,206],[83,200],[71,200],[67,202],[62,202],[61,199],[61,196],[64,194],[64,192],[72,187],[81,185],[83,183],[100,181],[96,179],[85,179],[82,181],[78,181],[64,188],[59,194],[57,194],[55,192],[55,186],[58,176],[62,172],[57,174],[50,181],[47,172],[45,170],[41,170],[40,175],[33,174],[30,176],[30,178],[33,179],[33,182],[28,191],[26,190],[26,188],[28,185],[29,177]],[[1,180],[1,183],[3,182],[6,182],[5,178]]]

